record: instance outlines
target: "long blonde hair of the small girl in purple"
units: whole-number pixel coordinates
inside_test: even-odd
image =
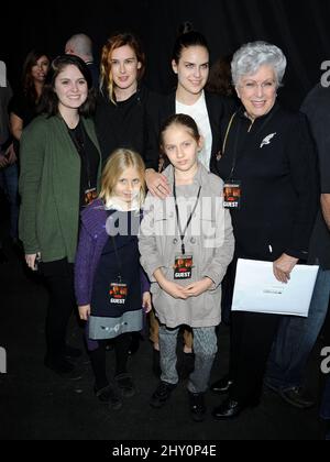
[[[140,154],[127,148],[116,150],[109,157],[102,173],[100,199],[105,204],[113,197],[113,190],[127,168],[135,168],[141,182],[140,206],[142,206],[145,194],[145,165]]]

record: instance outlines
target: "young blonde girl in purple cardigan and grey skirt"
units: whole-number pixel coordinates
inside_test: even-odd
[[[145,195],[144,164],[129,150],[117,150],[106,164],[99,199],[81,213],[75,266],[80,319],[95,373],[95,393],[118,409],[121,396],[135,394],[127,371],[131,333],[143,327],[151,309],[147,279],[140,266],[138,231]],[[106,372],[106,340],[114,339],[116,376]],[[121,392],[121,393],[118,393]]]

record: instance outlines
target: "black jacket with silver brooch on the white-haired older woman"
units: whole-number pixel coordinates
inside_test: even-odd
[[[234,164],[232,178],[241,180],[242,187],[241,208],[231,211],[237,256],[275,261],[287,253],[306,260],[318,188],[305,117],[275,105],[252,124],[239,110],[217,162],[223,180],[230,178]]]

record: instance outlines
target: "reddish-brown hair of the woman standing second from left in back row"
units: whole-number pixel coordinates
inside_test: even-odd
[[[109,99],[114,103],[114,88],[111,73],[110,58],[114,50],[122,46],[130,46],[136,55],[138,63],[141,63],[141,68],[138,70],[138,80],[141,80],[145,72],[145,54],[139,38],[131,33],[118,33],[108,38],[101,52],[101,75],[100,75],[100,90],[107,90]]]

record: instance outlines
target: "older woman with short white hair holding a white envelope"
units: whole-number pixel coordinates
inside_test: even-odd
[[[286,64],[283,52],[265,42],[245,44],[234,54],[232,77],[242,108],[228,121],[217,160],[231,209],[235,262],[273,262],[282,283],[307,258],[318,183],[304,116],[276,101]],[[235,417],[260,402],[279,320],[276,315],[232,312],[229,375],[211,387],[229,397],[213,410],[216,419]]]

